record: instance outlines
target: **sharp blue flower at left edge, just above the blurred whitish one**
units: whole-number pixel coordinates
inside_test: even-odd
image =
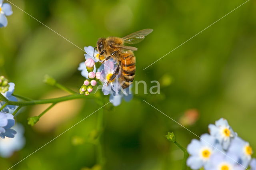
[[[12,114],[0,112],[0,137],[14,138],[14,135],[17,133],[15,130],[11,129],[14,124],[15,120]]]

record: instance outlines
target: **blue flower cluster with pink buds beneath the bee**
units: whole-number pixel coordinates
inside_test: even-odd
[[[85,63],[80,63],[78,70],[81,71],[82,76],[86,77],[84,84],[80,88],[80,94],[89,95],[94,87],[102,89],[104,95],[110,95],[110,102],[114,106],[120,105],[122,98],[126,101],[132,99],[132,94],[129,88],[122,89],[117,75],[116,78],[110,81],[110,77],[114,74],[117,67],[116,62],[113,59],[109,59],[103,64],[100,62],[104,60],[97,50],[92,46],[84,47]]]

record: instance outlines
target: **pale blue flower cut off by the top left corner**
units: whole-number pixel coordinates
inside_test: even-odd
[[[12,15],[12,6],[8,3],[3,4],[3,0],[0,0],[0,28],[7,26],[6,16],[10,15]]]

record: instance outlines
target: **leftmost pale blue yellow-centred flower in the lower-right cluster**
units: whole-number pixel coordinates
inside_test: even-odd
[[[209,134],[202,134],[200,140],[193,139],[187,147],[190,157],[187,165],[196,170],[202,166],[208,166],[212,154],[222,152],[221,145],[216,142],[216,138]]]

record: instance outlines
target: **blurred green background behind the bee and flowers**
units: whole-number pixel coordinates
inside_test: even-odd
[[[6,2],[6,1],[5,1]],[[256,150],[256,2],[249,1],[154,65],[145,67],[185,42],[244,0],[10,0],[83,49],[100,37],[123,37],[144,28],[154,32],[134,46],[135,80],[158,80],[160,95],[140,91],[129,103],[104,110],[102,149],[107,170],[180,169],[182,151],[166,140],[174,132],[182,146],[196,138],[141,98],[179,121],[189,109],[199,119],[187,127],[200,135],[224,117]],[[15,6],[7,28],[0,29],[0,73],[16,84],[15,93],[32,99],[68,95],[42,82],[45,74],[78,91],[84,78],[77,67],[84,52]],[[167,81],[166,81],[167,80]],[[140,89],[143,87],[140,85]],[[94,100],[60,103],[38,125],[26,119],[47,106],[20,111],[26,146],[10,168],[99,108]],[[97,127],[96,112],[44,146],[14,170],[81,170],[97,164],[97,148],[86,140]]]

